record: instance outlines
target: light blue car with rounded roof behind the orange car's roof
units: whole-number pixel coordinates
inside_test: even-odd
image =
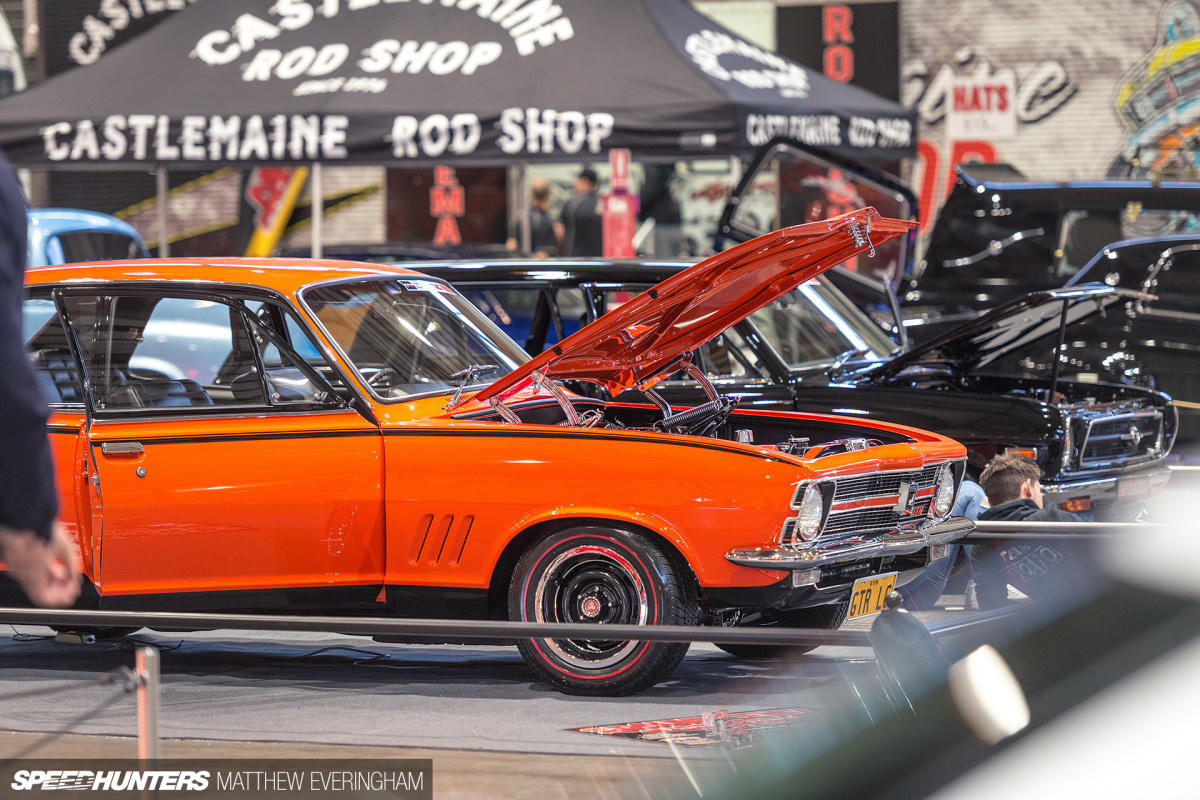
[[[133,225],[107,213],[79,209],[30,209],[26,217],[26,269],[150,255]]]

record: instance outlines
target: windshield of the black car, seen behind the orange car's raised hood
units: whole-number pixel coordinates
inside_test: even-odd
[[[809,281],[750,317],[792,369],[835,361],[846,353],[884,359],[896,345],[824,278]]]

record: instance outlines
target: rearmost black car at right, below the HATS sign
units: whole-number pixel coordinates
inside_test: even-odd
[[[1111,242],[1200,229],[1200,184],[1031,181],[997,164],[955,172],[924,252],[900,284],[917,339],[1027,291],[1061,287]]]

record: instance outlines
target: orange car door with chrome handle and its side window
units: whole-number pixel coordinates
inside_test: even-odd
[[[109,285],[61,302],[88,380],[104,597],[373,599],[379,431],[338,396],[338,371],[282,301]]]

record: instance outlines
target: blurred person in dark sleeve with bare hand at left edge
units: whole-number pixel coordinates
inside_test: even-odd
[[[55,522],[54,464],[20,327],[25,275],[25,196],[0,154],[0,559],[37,606],[79,595],[74,545]]]

